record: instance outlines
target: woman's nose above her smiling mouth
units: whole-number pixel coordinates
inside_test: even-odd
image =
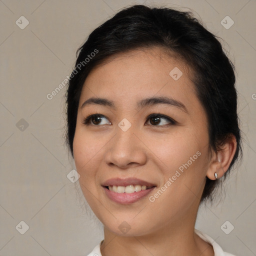
[[[146,146],[132,125],[126,131],[117,126],[105,152],[106,163],[122,169],[143,165],[147,159]]]

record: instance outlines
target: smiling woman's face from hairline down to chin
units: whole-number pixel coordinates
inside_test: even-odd
[[[84,82],[75,166],[87,202],[115,234],[194,225],[210,159],[188,71],[154,47],[119,55]]]

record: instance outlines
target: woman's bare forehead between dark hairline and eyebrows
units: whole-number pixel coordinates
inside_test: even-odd
[[[80,101],[104,96],[118,105],[153,95],[197,100],[190,73],[184,61],[159,47],[130,50],[109,57],[91,70]]]

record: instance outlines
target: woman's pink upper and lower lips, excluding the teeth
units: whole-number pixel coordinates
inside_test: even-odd
[[[107,187],[108,186],[128,186],[128,185],[145,185],[147,189],[145,190],[140,190],[138,192],[133,192],[133,193],[117,193],[114,191],[110,191]],[[147,182],[145,180],[137,179],[137,178],[111,178],[106,180],[103,184],[102,187],[107,195],[107,197],[117,203],[121,204],[130,204],[133,202],[138,201],[139,199],[143,198],[147,194],[149,194],[154,188],[155,184]]]

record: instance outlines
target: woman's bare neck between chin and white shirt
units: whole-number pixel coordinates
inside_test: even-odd
[[[102,256],[213,256],[212,246],[194,233],[195,219],[196,211],[195,214],[189,213],[179,220],[164,223],[154,232],[140,236],[119,236],[104,227],[101,254]]]

